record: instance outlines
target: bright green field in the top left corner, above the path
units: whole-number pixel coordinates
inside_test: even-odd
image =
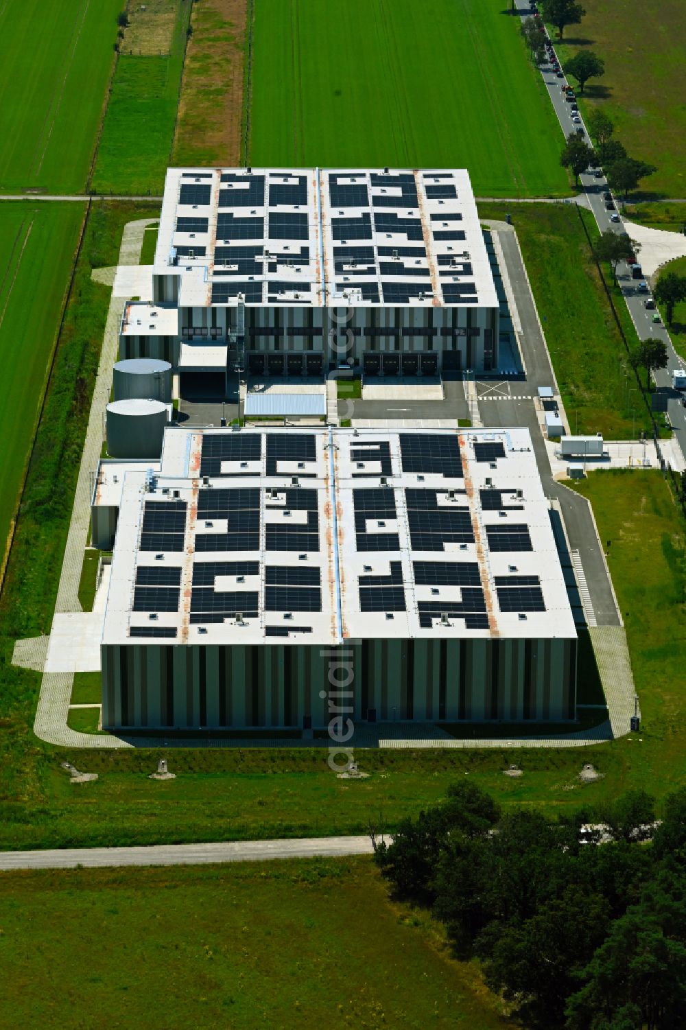
[[[0,192],[84,190],[123,6],[0,4]]]

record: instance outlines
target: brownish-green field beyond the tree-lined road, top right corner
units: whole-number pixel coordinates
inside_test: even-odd
[[[605,61],[603,78],[591,79],[581,107],[602,106],[617,126],[629,154],[655,165],[645,193],[686,198],[683,140],[686,134],[686,19],[683,0],[631,7],[626,0],[593,0],[581,25],[570,26],[562,60],[591,49]],[[552,33],[551,33],[552,35]]]

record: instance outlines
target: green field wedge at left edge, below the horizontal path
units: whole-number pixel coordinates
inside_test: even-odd
[[[0,563],[84,210],[84,204],[76,203],[0,205]]]

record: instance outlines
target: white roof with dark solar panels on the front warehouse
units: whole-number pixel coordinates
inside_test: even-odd
[[[104,644],[574,638],[528,431],[166,431]]]

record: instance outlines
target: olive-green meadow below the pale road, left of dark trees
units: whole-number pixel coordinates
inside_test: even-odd
[[[1,876],[3,1026],[511,1025],[369,858]]]

